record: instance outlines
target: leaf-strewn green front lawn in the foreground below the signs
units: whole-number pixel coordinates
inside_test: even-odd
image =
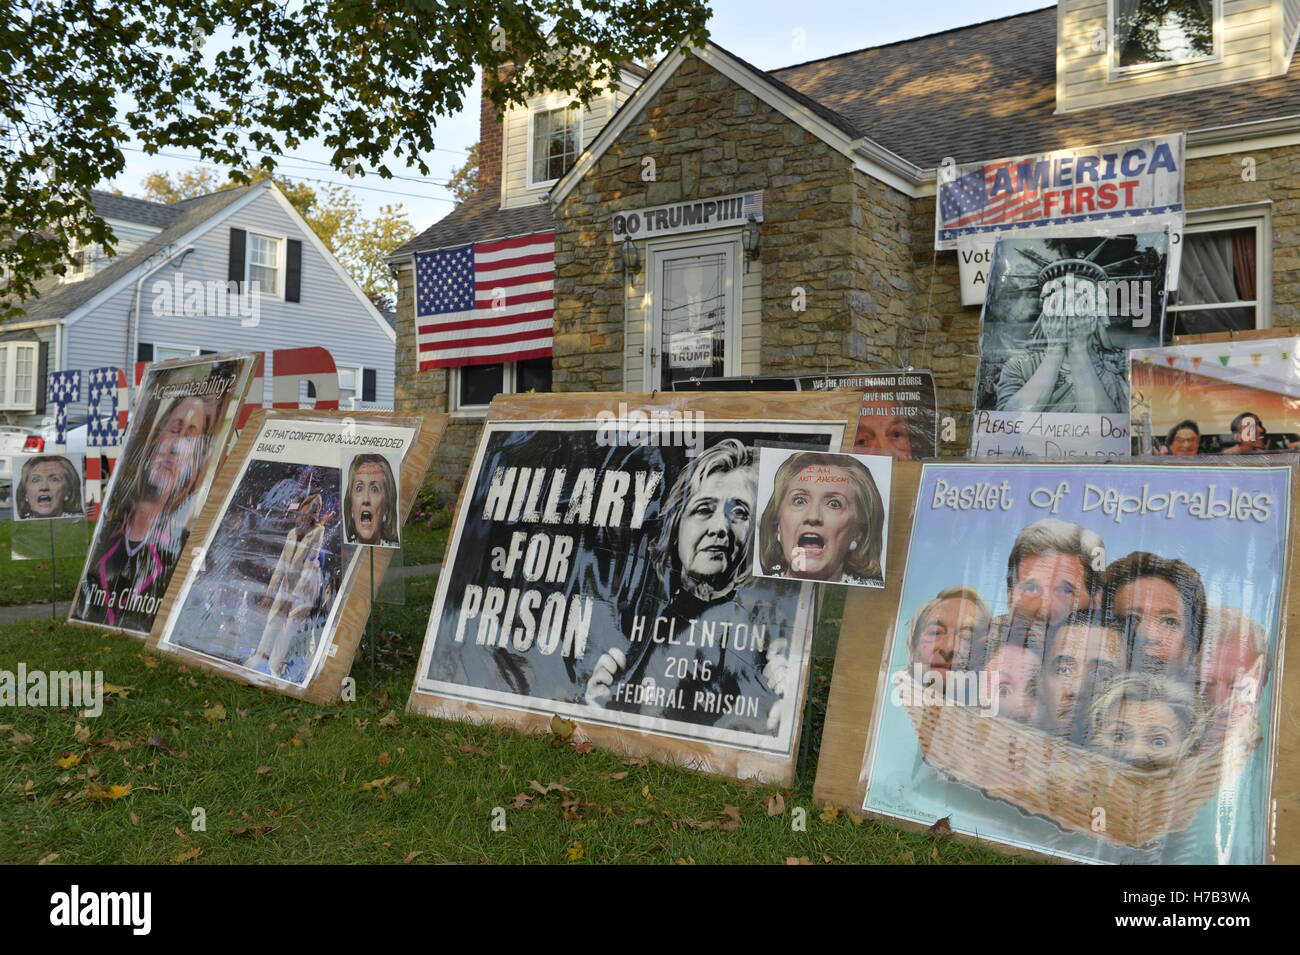
[[[772,786],[407,716],[433,583],[408,581],[406,604],[378,607],[374,654],[364,647],[354,667],[359,699],[330,708],[150,656],[126,637],[0,628],[0,669],[101,669],[129,687],[99,719],[0,709],[0,863],[1006,861],[950,837],[823,816],[811,767],[768,816]],[[818,677],[837,613],[823,608]],[[827,686],[815,681],[823,706]],[[196,808],[204,832],[191,828]],[[498,808],[504,832],[491,826]]]

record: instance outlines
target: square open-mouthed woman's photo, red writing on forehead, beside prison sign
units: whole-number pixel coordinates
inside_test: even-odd
[[[893,460],[759,451],[759,577],[883,587]]]

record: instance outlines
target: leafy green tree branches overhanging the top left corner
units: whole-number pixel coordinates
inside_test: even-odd
[[[90,190],[133,136],[237,170],[318,140],[339,170],[391,175],[395,156],[428,175],[438,118],[480,74],[502,109],[550,90],[585,103],[707,18],[705,0],[3,3],[0,318],[70,244],[112,249]]]

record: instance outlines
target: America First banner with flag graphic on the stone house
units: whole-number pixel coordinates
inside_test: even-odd
[[[1011,230],[1091,226],[1183,212],[1183,134],[1057,149],[940,170],[935,248]]]

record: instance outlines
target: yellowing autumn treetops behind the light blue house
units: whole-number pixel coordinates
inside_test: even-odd
[[[178,203],[240,185],[239,179],[260,182],[272,178],[298,214],[348,270],[376,308],[393,309],[396,283],[385,259],[393,249],[415,238],[415,227],[400,205],[384,205],[374,218],[361,213],[361,205],[344,186],[292,182],[273,177],[265,169],[243,170],[222,175],[211,166],[181,173],[153,172],[144,177],[143,199],[156,203]]]

